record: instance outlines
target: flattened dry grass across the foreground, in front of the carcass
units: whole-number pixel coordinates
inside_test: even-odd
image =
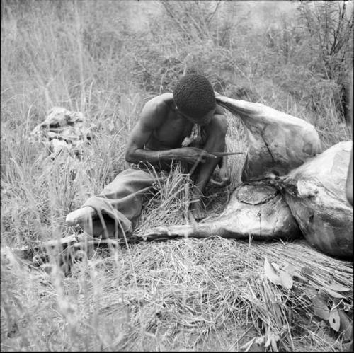
[[[276,287],[263,274],[265,257],[314,274],[291,290]],[[349,263],[329,262],[304,242],[223,238],[96,253],[67,278],[10,264],[1,264],[4,350],[237,351],[272,332],[281,350],[338,350],[341,340],[314,318],[311,298],[321,283],[351,287],[353,275]],[[346,297],[351,305],[353,291]]]

